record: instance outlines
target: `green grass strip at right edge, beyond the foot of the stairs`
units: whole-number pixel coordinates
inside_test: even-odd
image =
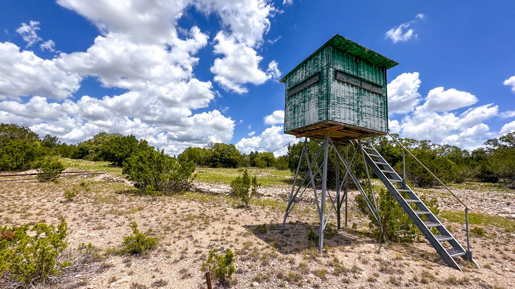
[[[450,222],[465,224],[465,212],[440,211],[440,216]],[[469,213],[469,224],[495,226],[504,228],[507,232],[515,232],[515,221],[502,216],[493,216],[483,213]]]

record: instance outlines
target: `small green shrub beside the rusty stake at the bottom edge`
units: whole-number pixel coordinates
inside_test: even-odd
[[[231,249],[219,252],[218,249],[209,251],[208,260],[202,264],[201,270],[211,273],[211,278],[217,280],[220,285],[229,284],[232,274],[235,272],[234,253]]]

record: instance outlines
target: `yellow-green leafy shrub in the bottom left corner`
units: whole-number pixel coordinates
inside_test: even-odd
[[[0,228],[0,276],[32,284],[60,273],[57,259],[66,249],[68,226],[64,220],[56,227],[39,223]]]

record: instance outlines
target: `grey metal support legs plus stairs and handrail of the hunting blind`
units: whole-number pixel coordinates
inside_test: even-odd
[[[390,135],[391,136],[391,135]],[[392,136],[391,136],[392,137]],[[393,138],[393,137],[392,137]],[[325,137],[322,145],[317,150],[317,153],[313,155],[313,152],[310,152],[307,146],[308,139],[304,139],[304,144],[302,146],[300,156],[299,156],[299,164],[297,166],[297,171],[295,173],[293,186],[291,187],[291,193],[288,198],[288,205],[286,207],[286,212],[284,214],[283,225],[281,227],[281,233],[284,232],[284,227],[286,224],[286,219],[291,211],[294,209],[295,205],[300,201],[300,198],[304,194],[304,192],[311,188],[314,193],[315,204],[317,207],[318,218],[319,218],[319,242],[318,242],[318,252],[319,254],[323,253],[323,234],[324,229],[327,226],[329,218],[331,216],[331,212],[333,209],[336,211],[337,215],[337,224],[338,229],[341,227],[341,206],[344,204],[345,198],[345,225],[347,226],[347,209],[348,209],[348,189],[350,182],[354,183],[355,187],[359,192],[361,192],[362,196],[365,199],[365,203],[367,204],[370,212],[372,213],[373,218],[379,224],[379,228],[382,230],[382,220],[379,214],[379,208],[376,202],[376,197],[374,193],[374,189],[372,186],[372,182],[370,179],[369,168],[373,171],[373,173],[379,177],[381,182],[385,185],[387,190],[392,194],[392,196],[396,199],[396,201],[401,205],[403,210],[407,213],[409,218],[413,220],[415,225],[421,230],[424,237],[429,241],[429,243],[435,248],[439,256],[443,259],[447,265],[451,267],[455,267],[457,269],[461,269],[459,265],[454,260],[455,257],[461,257],[465,260],[468,260],[477,265],[477,263],[472,258],[472,252],[470,250],[470,241],[469,241],[469,218],[468,211],[469,208],[461,201],[459,198],[447,188],[433,173],[431,173],[451,194],[457,198],[459,203],[465,206],[465,224],[466,224],[466,233],[467,233],[467,249],[464,249],[459,242],[452,236],[451,232],[438,220],[438,218],[430,211],[430,209],[420,200],[420,198],[416,195],[416,193],[409,188],[406,184],[406,161],[405,161],[405,153],[407,152],[411,157],[414,157],[424,169],[427,168],[413,155],[409,150],[407,150],[402,143],[400,143],[397,139],[393,138],[402,148],[403,148],[403,175],[402,177],[397,174],[396,171],[387,163],[386,159],[384,159],[381,154],[375,150],[372,146],[370,139],[367,141],[355,139],[350,140],[354,151],[351,152],[352,157],[349,160],[348,149],[349,146],[346,146],[345,158],[342,157],[340,151],[338,150],[338,146],[333,143],[333,140],[329,136],[328,132],[325,132]],[[329,156],[332,153],[331,150],[334,151],[336,158],[336,194],[334,198],[331,196],[331,192],[328,189],[328,162]],[[323,153],[322,153],[323,152]],[[367,187],[369,187],[370,194],[368,195],[362,185],[359,183],[359,180],[353,173],[355,166],[357,164],[356,160],[358,159],[358,155],[363,157],[363,164],[365,166],[365,172],[368,179]],[[307,171],[304,173],[301,182],[299,182],[299,174],[301,165],[304,161],[307,164]],[[322,160],[322,163],[319,165],[319,160]],[[345,168],[345,175],[342,179],[340,179],[340,164],[342,164]],[[317,187],[315,184],[315,176],[320,176],[322,179],[321,188]],[[309,178],[309,180],[308,180]],[[308,182],[306,182],[308,180]],[[298,187],[297,187],[298,185]],[[344,194],[341,195],[341,191],[344,191]],[[369,197],[370,196],[370,197]],[[329,209],[326,206],[326,199],[329,197],[331,201],[331,206]],[[423,216],[423,218],[421,218]],[[435,231],[433,232],[432,229]],[[444,242],[445,246],[442,244]]]

